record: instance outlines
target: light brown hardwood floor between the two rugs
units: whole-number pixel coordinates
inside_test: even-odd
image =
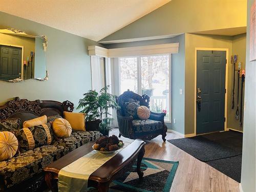
[[[119,135],[114,129],[110,135]],[[122,138],[122,137],[121,137]],[[167,133],[166,139],[178,139],[180,136]],[[239,183],[217,169],[185,153],[169,142],[163,142],[161,136],[146,142],[144,157],[179,161],[179,166],[170,191],[172,192],[226,192],[239,191]]]

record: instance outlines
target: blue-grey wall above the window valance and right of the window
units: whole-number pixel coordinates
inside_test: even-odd
[[[185,34],[165,39],[144,40],[134,42],[124,42],[120,44],[108,44],[105,48],[123,48],[134,46],[147,46],[157,44],[170,44],[179,42],[179,53],[172,54],[172,122],[176,119],[176,123],[166,123],[168,129],[172,129],[184,134],[184,115],[185,115]],[[183,95],[180,95],[180,89],[183,89]]]

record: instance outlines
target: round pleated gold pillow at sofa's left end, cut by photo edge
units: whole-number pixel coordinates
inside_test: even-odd
[[[18,151],[18,140],[11,132],[0,132],[0,161],[12,158]]]

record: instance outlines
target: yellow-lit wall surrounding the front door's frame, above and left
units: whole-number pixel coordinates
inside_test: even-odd
[[[196,35],[186,33],[185,61],[185,134],[194,133],[195,115],[195,48],[226,48],[228,58],[232,52],[232,37],[220,35]],[[228,90],[230,95],[231,64],[228,64]],[[229,97],[228,97],[229,100]],[[230,103],[228,101],[228,103]],[[230,104],[228,104],[228,108]]]

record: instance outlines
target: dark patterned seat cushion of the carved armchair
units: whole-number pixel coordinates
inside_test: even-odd
[[[143,134],[161,129],[163,129],[163,123],[161,121],[155,121],[151,119],[133,120],[134,133]]]

